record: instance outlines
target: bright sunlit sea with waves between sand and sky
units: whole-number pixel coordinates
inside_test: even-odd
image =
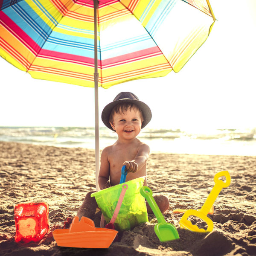
[[[94,127],[0,127],[0,141],[56,147],[95,148]],[[99,128],[99,147],[112,145],[117,135]],[[152,152],[256,156],[256,128],[212,129],[196,132],[182,129],[144,128],[138,138]]]

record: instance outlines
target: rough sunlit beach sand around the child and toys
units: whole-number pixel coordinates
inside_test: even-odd
[[[164,213],[180,239],[161,243],[154,233],[156,218],[121,234],[108,249],[58,247],[52,231],[76,215],[84,196],[95,191],[94,151],[0,142],[0,255],[1,256],[219,256],[256,255],[256,157],[152,153],[148,186],[169,198]],[[214,204],[211,233],[180,229],[183,213],[200,209],[214,186],[217,172],[228,171],[229,187]],[[39,242],[15,242],[14,207],[47,202],[50,231]],[[96,220],[95,220],[96,221]],[[197,221],[194,218],[194,221]]]

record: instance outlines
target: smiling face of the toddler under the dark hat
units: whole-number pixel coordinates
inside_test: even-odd
[[[133,139],[140,133],[142,122],[140,111],[128,108],[124,114],[114,113],[113,122],[110,124],[119,137]]]

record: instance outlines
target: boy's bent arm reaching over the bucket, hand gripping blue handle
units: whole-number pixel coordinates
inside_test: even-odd
[[[123,165],[126,166],[127,172],[137,172],[138,170],[140,170],[147,163],[149,153],[150,148],[148,145],[140,145],[138,153],[134,160],[125,161],[123,163]]]

